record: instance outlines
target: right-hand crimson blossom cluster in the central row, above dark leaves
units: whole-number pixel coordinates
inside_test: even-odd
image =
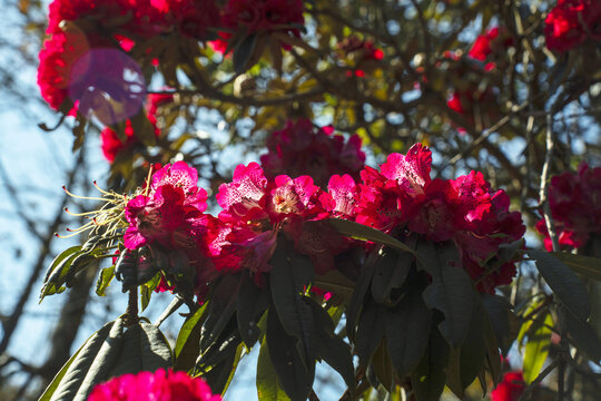
[[[345,205],[339,209],[354,204],[342,217],[391,235],[408,229],[427,241],[454,242],[479,291],[493,293],[495,286],[511,283],[514,262],[497,261],[496,255],[500,246],[520,239],[525,226],[519,212],[509,211],[509,196],[491,188],[482,173],[432,179],[431,165],[431,150],[416,144],[406,155],[388,155],[380,172],[365,167],[359,184],[336,178],[343,189],[333,197]]]

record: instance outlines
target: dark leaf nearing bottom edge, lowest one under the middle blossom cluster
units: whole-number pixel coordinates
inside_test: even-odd
[[[272,363],[290,400],[305,401],[313,387],[315,361],[303,360],[298,352],[298,340],[286,333],[272,307],[267,312],[266,333]]]

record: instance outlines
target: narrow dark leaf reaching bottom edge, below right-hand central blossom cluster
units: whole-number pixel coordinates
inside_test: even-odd
[[[444,370],[447,363],[449,344],[433,325],[428,346],[411,374],[411,384],[417,401],[439,401],[446,382]]]

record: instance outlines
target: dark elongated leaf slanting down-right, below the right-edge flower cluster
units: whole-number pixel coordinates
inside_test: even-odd
[[[591,314],[591,304],[582,281],[570,267],[548,252],[530,250],[528,254],[535,261],[539,272],[565,309],[581,322],[587,322]]]

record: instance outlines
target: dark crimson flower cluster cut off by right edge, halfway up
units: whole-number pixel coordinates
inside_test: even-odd
[[[565,172],[551,178],[549,206],[560,245],[579,248],[592,235],[601,235],[601,167],[583,163],[577,173]],[[536,224],[544,234],[544,246],[553,250],[544,219]]]

